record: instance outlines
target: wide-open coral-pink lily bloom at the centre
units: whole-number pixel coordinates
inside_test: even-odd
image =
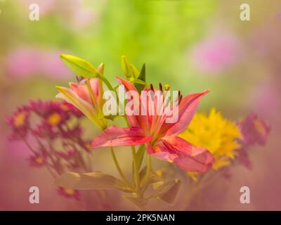
[[[127,91],[137,91],[131,82],[119,77],[117,77],[117,80],[125,86]],[[152,88],[152,90],[155,91],[156,89]],[[178,167],[186,171],[207,172],[214,163],[213,155],[206,148],[192,146],[191,143],[177,135],[186,129],[195,114],[200,98],[208,92],[203,91],[180,98],[181,101],[177,106],[177,122],[166,123],[166,114],[151,115],[149,110],[147,110],[147,115],[127,115],[130,127],[112,126],[105,129],[92,141],[91,147],[137,146],[146,143],[147,153],[160,160],[175,162]],[[139,96],[140,103],[143,99],[142,94]],[[157,107],[155,102],[156,96],[155,99],[148,98],[148,105]]]

